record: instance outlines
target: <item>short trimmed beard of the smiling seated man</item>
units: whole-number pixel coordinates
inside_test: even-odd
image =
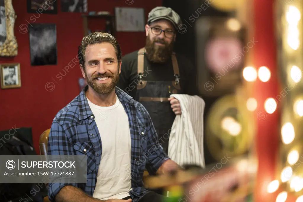
[[[119,81],[119,68],[118,68],[118,73],[116,75],[111,74],[111,73],[95,74],[95,75],[92,75],[91,78],[88,78],[86,71],[85,71],[85,77],[86,77],[87,84],[90,87],[92,87],[92,89],[94,89],[95,92],[97,92],[98,94],[108,94],[114,90],[115,86],[117,85],[117,83]],[[112,79],[112,81],[109,84],[108,83],[98,84],[97,83],[98,77],[109,77],[110,79]]]

